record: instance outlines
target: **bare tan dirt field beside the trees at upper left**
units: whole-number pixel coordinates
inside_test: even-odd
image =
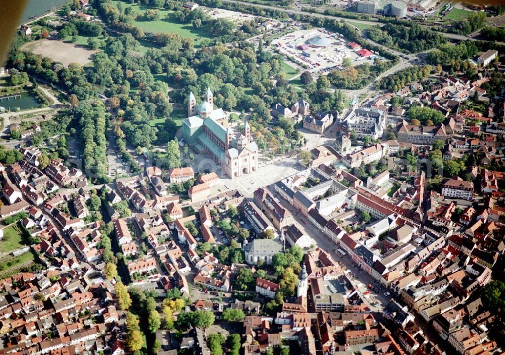
[[[39,39],[23,44],[21,50],[39,54],[60,62],[68,67],[70,63],[86,65],[99,50],[90,50],[76,43],[67,43],[52,39]]]

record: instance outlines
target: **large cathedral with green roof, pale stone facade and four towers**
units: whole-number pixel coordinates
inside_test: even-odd
[[[236,133],[227,126],[223,109],[214,109],[210,88],[198,105],[191,92],[187,109],[182,134],[193,150],[211,156],[230,178],[258,170],[258,145],[252,139],[249,124],[245,122],[242,132]]]

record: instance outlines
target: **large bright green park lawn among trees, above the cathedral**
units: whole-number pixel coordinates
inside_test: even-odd
[[[129,5],[125,2],[113,0],[113,4],[116,5],[121,3],[123,9],[127,7],[132,7],[135,12],[143,14],[146,7],[140,5]],[[143,16],[138,17],[133,24],[140,28],[144,32],[165,32],[165,33],[176,33],[182,37],[192,38],[194,40],[194,47],[200,48],[201,42],[206,38],[211,38],[209,33],[204,28],[195,29],[190,24],[178,23],[174,18],[174,12],[170,10],[157,10],[160,14],[158,20],[148,21],[143,18]]]

